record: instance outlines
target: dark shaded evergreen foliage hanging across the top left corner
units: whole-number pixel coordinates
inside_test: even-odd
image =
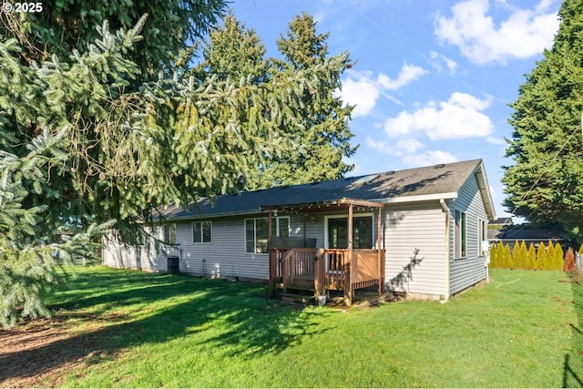
[[[125,54],[141,77],[156,80],[160,70],[179,63],[180,54],[188,52],[181,60],[189,61],[189,42],[196,46],[226,5],[225,0],[56,0],[44,2],[41,13],[1,13],[0,20],[8,35],[18,39],[22,56],[40,64],[53,56],[67,61],[75,51],[86,52],[87,44],[101,38],[96,26],[105,21],[113,30],[128,31],[148,15],[144,39]]]

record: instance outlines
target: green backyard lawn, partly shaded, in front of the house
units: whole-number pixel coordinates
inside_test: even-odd
[[[341,312],[269,300],[261,285],[83,269],[51,297],[56,340],[0,351],[0,385],[582,386],[583,279],[491,277],[445,304]],[[38,367],[20,372],[23,360]]]

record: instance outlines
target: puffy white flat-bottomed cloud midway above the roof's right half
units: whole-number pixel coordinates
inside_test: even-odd
[[[403,111],[389,118],[384,131],[391,138],[418,132],[432,140],[487,137],[494,132],[494,124],[481,111],[489,106],[489,98],[455,92],[447,101],[430,101],[412,113]]]

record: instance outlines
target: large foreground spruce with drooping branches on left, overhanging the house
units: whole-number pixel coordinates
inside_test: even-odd
[[[66,6],[66,2],[57,3],[56,8],[47,5],[46,13],[52,15],[53,10],[62,11]],[[191,4],[160,4],[170,3]],[[165,12],[169,8],[160,8],[159,13]],[[70,53],[63,53],[49,38],[43,40],[42,33],[30,32],[32,15],[13,16],[0,13],[5,26],[4,36],[0,36],[0,157],[2,166],[16,159],[15,168],[0,172],[4,191],[0,215],[7,214],[7,207],[15,207],[18,214],[36,215],[36,219],[11,220],[6,222],[8,227],[0,227],[2,240],[16,240],[2,254],[3,285],[30,288],[30,293],[19,294],[24,296],[19,301],[7,297],[12,287],[0,287],[5,322],[14,322],[19,305],[32,307],[21,311],[23,315],[46,313],[31,300],[39,287],[27,282],[25,273],[10,270],[33,258],[26,252],[58,244],[56,237],[64,227],[77,232],[80,240],[87,230],[96,231],[95,226],[110,222],[114,224],[107,225],[118,231],[122,241],[138,243],[146,233],[144,223],[152,220],[158,207],[236,191],[262,161],[297,148],[286,132],[303,126],[305,118],[299,107],[306,91],[315,90],[314,98],[319,98],[320,90],[313,86],[329,79],[345,62],[345,57],[333,57],[295,74],[275,73],[256,84],[214,74],[197,80],[181,77],[184,67],[171,59],[179,56],[177,52],[167,53],[165,60],[156,53],[134,56],[143,40],[142,28],[156,28],[147,24],[146,16],[128,31],[112,32],[104,21],[95,27],[95,40],[88,33],[81,36],[75,28],[79,35],[67,40],[68,32],[61,28],[65,46],[83,43],[83,50],[74,45]],[[57,20],[68,17],[61,16]],[[149,17],[162,25],[175,20],[170,17],[162,22],[158,16]],[[206,22],[179,28],[187,34],[185,31],[198,30],[211,19],[199,17]],[[39,29],[50,26],[50,22],[36,21]],[[144,33],[148,36],[152,31]],[[169,42],[168,47],[172,45]],[[138,65],[136,58],[150,62]],[[154,69],[156,77],[152,76]],[[33,158],[28,155],[34,139],[41,135],[46,141],[59,139],[47,151],[51,155],[58,151],[62,158],[58,163],[53,159],[56,154],[48,158],[36,153],[38,162],[31,165]],[[17,173],[32,169],[30,166],[42,179]],[[18,203],[11,205],[8,199],[18,199]],[[10,232],[11,222],[20,223],[18,228],[29,235]],[[26,223],[34,224],[36,230]],[[27,245],[33,248],[29,250]],[[46,258],[46,253],[40,256]],[[46,263],[36,268],[38,285],[52,279],[53,265],[48,259]]]

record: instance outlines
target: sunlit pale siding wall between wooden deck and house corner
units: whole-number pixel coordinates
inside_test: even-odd
[[[439,201],[387,204],[383,215],[387,289],[444,296],[445,212]]]

